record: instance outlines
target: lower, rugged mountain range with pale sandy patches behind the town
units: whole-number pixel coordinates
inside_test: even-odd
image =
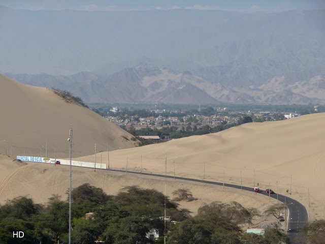
[[[290,83],[282,75],[259,86],[231,86],[207,81],[188,71],[178,73],[148,64],[111,75],[79,72],[59,76],[7,73],[6,76],[28,85],[69,90],[87,103],[325,104],[324,76]]]

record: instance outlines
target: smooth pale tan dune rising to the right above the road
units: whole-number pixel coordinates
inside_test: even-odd
[[[110,152],[113,169],[207,178],[292,195],[308,209],[311,219],[325,218],[325,113],[283,121],[250,123],[215,134]],[[108,161],[107,153],[101,153]],[[82,160],[93,162],[94,156]],[[205,175],[204,175],[205,174]],[[286,193],[288,191],[288,193]]]

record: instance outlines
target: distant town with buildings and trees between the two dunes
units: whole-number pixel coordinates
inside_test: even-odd
[[[185,108],[180,105],[141,106],[90,106],[91,109],[120,126],[141,141],[140,145],[164,142],[170,139],[191,135],[204,135],[219,132],[245,123],[261,123],[298,117],[304,114],[320,112],[318,105],[278,105],[256,106],[230,105],[229,107]],[[166,108],[164,108],[166,106]],[[244,108],[244,109],[243,109]],[[261,111],[269,108],[270,111]],[[245,110],[246,109],[246,110]],[[260,111],[258,111],[260,110]]]

